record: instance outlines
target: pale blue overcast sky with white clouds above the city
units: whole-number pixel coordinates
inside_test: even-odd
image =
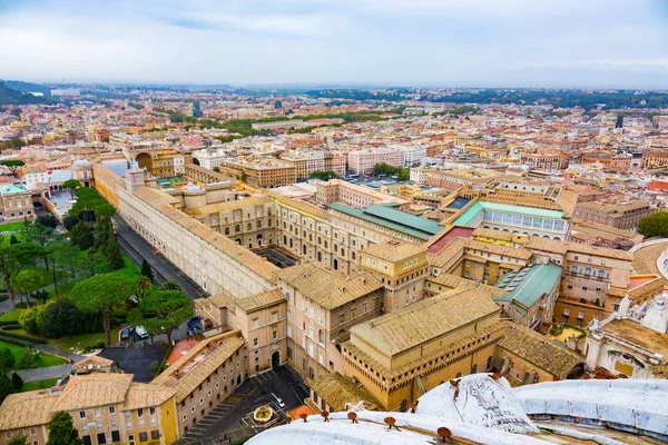
[[[668,0],[0,0],[0,79],[668,88]]]

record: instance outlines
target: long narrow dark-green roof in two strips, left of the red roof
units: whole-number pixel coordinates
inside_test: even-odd
[[[443,229],[436,221],[420,218],[386,205],[372,205],[360,210],[334,202],[330,205],[330,208],[423,240],[428,240]]]

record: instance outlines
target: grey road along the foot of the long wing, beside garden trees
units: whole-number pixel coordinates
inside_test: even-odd
[[[154,247],[148,244],[141,236],[134,231],[121,218],[116,216],[116,233],[120,247],[126,255],[137,265],[141,265],[141,260],[146,258],[150,267],[156,273],[156,281],[158,284],[165,280],[175,280],[181,287],[184,294],[189,298],[200,298],[204,290],[188,278],[183,271],[174,267],[165,257],[155,255]]]

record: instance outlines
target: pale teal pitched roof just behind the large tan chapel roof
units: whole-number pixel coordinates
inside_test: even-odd
[[[549,294],[561,277],[561,267],[533,265],[503,275],[497,287],[509,293],[494,298],[494,301],[518,301],[531,307],[543,294]]]

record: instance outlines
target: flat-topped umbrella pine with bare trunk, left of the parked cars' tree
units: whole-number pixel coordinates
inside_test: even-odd
[[[135,280],[130,278],[117,274],[102,274],[77,283],[69,294],[69,299],[79,310],[102,314],[107,345],[109,345],[114,309],[122,307],[135,294]]]

